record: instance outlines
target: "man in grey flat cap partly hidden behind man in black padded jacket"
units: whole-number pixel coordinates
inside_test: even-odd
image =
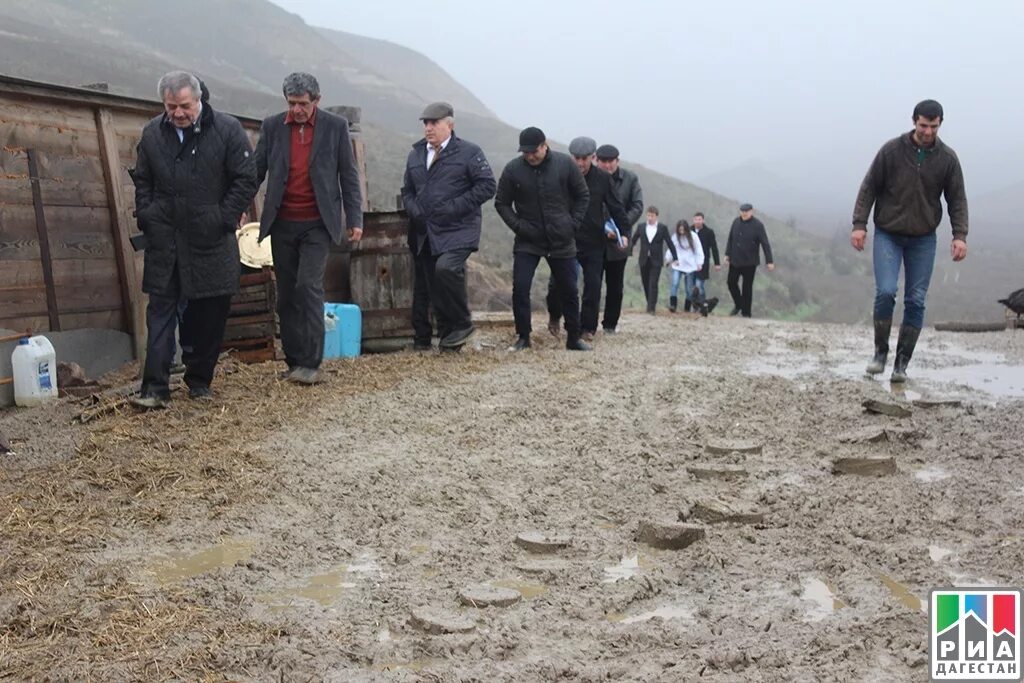
[[[584,341],[590,342],[597,332],[597,317],[601,308],[601,275],[604,273],[604,256],[608,240],[614,240],[604,230],[605,214],[617,225],[629,225],[622,202],[612,189],[611,175],[594,165],[597,142],[590,137],[578,137],[569,142],[569,155],[587,180],[590,204],[583,225],[577,232],[577,261],[583,269],[583,303],[580,307],[580,329]],[[560,298],[555,281],[548,283],[548,331],[558,336],[558,323],[562,316]]]

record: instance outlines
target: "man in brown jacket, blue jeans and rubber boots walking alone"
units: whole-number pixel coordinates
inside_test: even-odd
[[[874,207],[874,356],[866,372],[885,371],[893,308],[903,266],[903,324],[891,380],[906,381],[906,367],[925,325],[925,299],[935,267],[935,231],[945,195],[952,223],[953,261],[967,258],[968,208],[964,171],[951,147],[938,137],[942,105],[934,99],[913,109],[913,130],[895,137],[874,156],[853,208],[850,244],[863,251],[867,218]]]

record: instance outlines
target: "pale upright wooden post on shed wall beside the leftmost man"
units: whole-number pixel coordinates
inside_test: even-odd
[[[121,164],[114,133],[114,119],[110,110],[104,108],[96,110],[96,132],[99,135],[99,158],[103,166],[103,182],[106,184],[114,253],[118,262],[118,280],[121,282],[122,309],[131,326],[135,357],[141,359],[145,353],[145,310],[142,306],[141,282],[135,267],[135,252],[128,239],[131,234],[131,219],[124,185],[121,182]]]

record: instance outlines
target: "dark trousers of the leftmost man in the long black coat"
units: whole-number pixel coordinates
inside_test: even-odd
[[[224,327],[231,308],[231,295],[189,299],[181,312],[180,297],[150,295],[145,307],[148,336],[145,367],[142,370],[142,394],[167,398],[171,395],[171,364],[174,361],[174,329],[181,319],[181,361],[185,365],[185,384],[191,388],[209,387],[217,367]]]

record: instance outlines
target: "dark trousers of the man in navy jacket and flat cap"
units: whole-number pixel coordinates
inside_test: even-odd
[[[415,256],[413,331],[417,343],[429,344],[433,336],[430,306],[437,315],[437,336],[440,339],[456,330],[473,326],[466,291],[466,261],[472,253],[472,249],[455,249],[434,255],[427,242]]]

